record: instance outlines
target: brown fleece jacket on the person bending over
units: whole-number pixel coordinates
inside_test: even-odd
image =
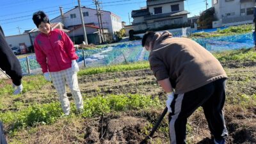
[[[157,81],[169,78],[175,93],[186,93],[227,75],[211,52],[189,38],[156,33],[149,55]]]

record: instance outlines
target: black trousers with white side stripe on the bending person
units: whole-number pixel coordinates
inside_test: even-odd
[[[223,116],[225,103],[225,80],[218,79],[196,90],[174,95],[169,114],[169,134],[171,144],[186,143],[186,124],[188,117],[200,106],[208,122],[211,134],[216,139],[227,136]]]

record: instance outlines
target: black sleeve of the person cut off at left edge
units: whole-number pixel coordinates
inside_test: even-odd
[[[21,84],[22,70],[20,62],[13,54],[12,49],[7,44],[3,30],[0,26],[0,68],[11,77],[13,84],[19,86]]]

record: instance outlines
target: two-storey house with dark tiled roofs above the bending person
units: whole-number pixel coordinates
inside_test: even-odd
[[[147,0],[147,7],[132,11],[134,31],[188,22],[184,0]],[[129,26],[127,26],[129,27]]]

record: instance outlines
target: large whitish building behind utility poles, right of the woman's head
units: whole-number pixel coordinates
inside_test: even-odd
[[[83,13],[84,24],[97,26],[100,28],[99,20],[97,17],[97,10],[93,8],[86,8],[85,6],[81,7]],[[120,31],[122,29],[121,18],[115,13],[101,10],[101,19],[102,19],[102,27],[104,29],[108,29],[111,35],[115,34],[115,31]],[[73,29],[73,27],[79,26],[82,24],[79,7],[76,6],[72,10],[68,12],[62,13],[61,15],[52,19],[51,22],[62,22],[65,27],[68,29]],[[90,33],[86,33],[90,34]],[[75,36],[81,35],[81,33],[75,33]]]

